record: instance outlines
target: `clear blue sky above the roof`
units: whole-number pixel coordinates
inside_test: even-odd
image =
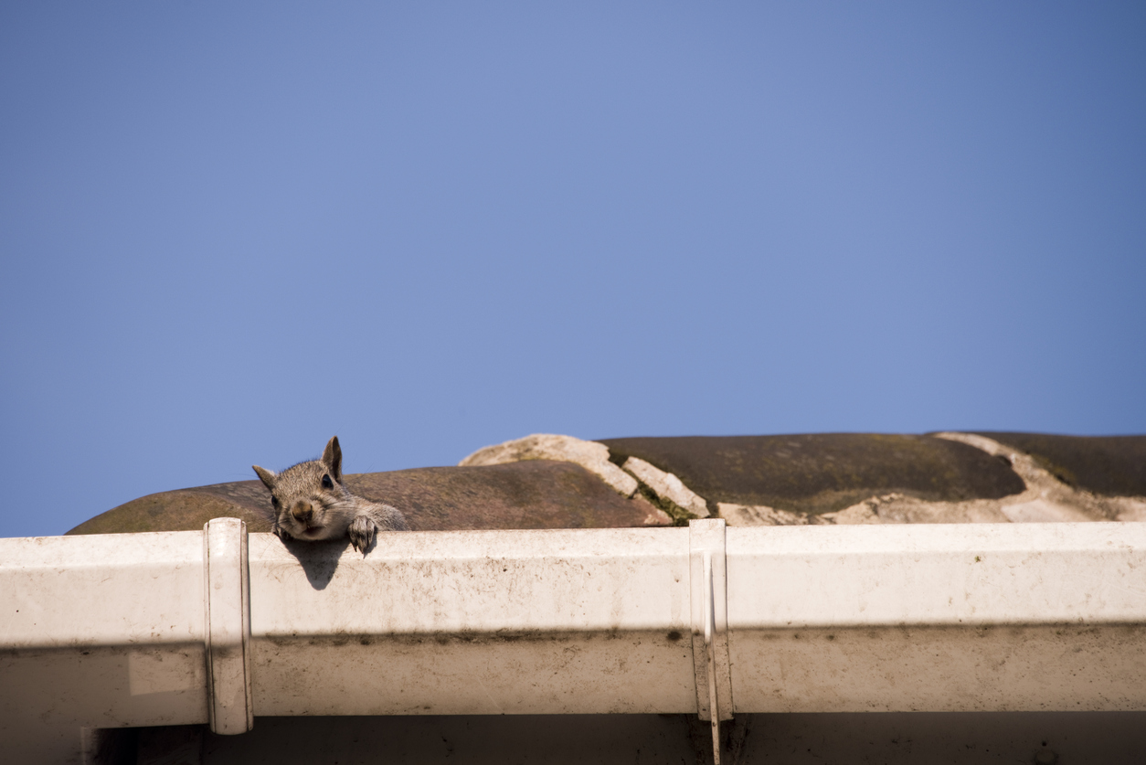
[[[0,536],[335,434],[1146,432],[1140,2],[6,2],[0,117]]]

